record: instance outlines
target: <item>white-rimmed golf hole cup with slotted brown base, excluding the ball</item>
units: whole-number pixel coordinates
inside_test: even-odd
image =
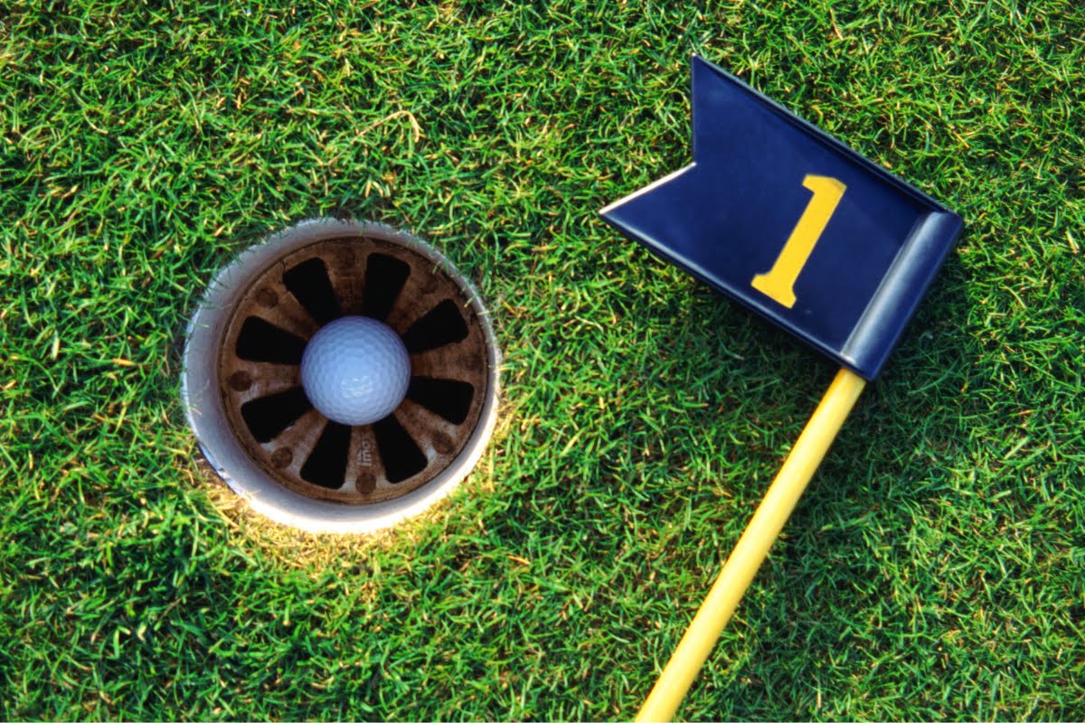
[[[330,419],[302,384],[309,339],[345,317],[386,325],[410,360],[403,401],[370,424]],[[429,507],[475,465],[498,365],[478,294],[444,256],[386,225],[316,219],[215,275],[189,324],[181,391],[204,456],[254,509],[310,532],[367,532]]]

